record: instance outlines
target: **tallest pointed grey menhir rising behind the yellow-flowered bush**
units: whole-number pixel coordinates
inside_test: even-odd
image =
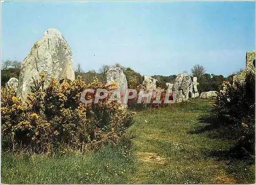
[[[48,85],[51,77],[57,81],[74,80],[74,62],[69,44],[57,29],[48,29],[41,40],[34,43],[30,54],[24,59],[18,79],[17,95],[25,102],[31,92],[33,79],[46,74]]]

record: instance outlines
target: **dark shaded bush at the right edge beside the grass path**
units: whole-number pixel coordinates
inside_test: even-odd
[[[255,145],[255,77],[248,75],[244,83],[231,85],[224,82],[225,91],[219,92],[214,102],[218,117],[228,120],[226,124],[236,129],[239,145],[245,151],[254,152]]]

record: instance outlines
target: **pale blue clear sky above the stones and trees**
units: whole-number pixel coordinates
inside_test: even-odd
[[[23,61],[48,28],[63,34],[75,67],[119,62],[142,75],[227,76],[255,49],[254,2],[4,2],[1,60]]]

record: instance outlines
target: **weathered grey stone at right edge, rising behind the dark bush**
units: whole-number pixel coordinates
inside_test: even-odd
[[[244,83],[249,74],[255,76],[255,51],[246,52],[246,67],[239,75],[233,76],[233,86]]]

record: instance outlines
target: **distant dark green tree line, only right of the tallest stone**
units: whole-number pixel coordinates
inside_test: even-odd
[[[108,70],[111,67],[122,68],[128,83],[131,80],[136,79],[138,81],[138,84],[142,84],[143,76],[140,73],[132,70],[132,68],[130,68],[130,67],[124,67],[119,63],[115,63],[114,65],[102,65],[99,68],[98,72],[96,72],[95,70],[84,72],[81,68],[81,65],[78,63],[76,71],[75,71],[75,75],[82,76],[83,80],[86,83],[92,82],[93,77],[95,77],[95,76],[99,79],[99,81],[105,83],[106,82],[106,73],[108,72]],[[199,92],[204,92],[204,91],[210,91],[210,90],[216,90],[216,91],[222,90],[223,81],[228,81],[232,84],[233,76],[240,74],[241,71],[242,70],[240,70],[238,72],[234,72],[231,75],[229,75],[228,77],[224,77],[223,75],[208,74],[208,73],[206,73],[206,70],[203,67],[203,65],[196,64],[191,68],[190,74],[188,72],[184,72],[184,73],[187,73],[191,76],[197,77],[197,79],[198,79],[197,82],[199,83],[198,90],[199,90]],[[166,88],[165,84],[166,83],[174,83],[177,75],[170,75],[170,76],[154,75],[152,77],[158,80],[157,81],[158,87]]]

